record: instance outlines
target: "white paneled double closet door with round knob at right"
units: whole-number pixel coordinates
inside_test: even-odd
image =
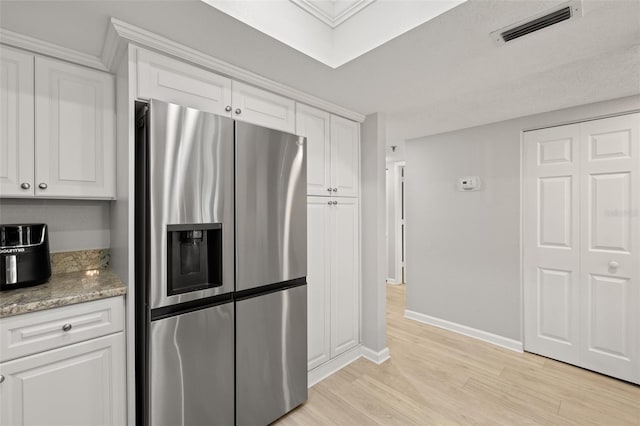
[[[640,114],[524,144],[525,349],[640,383]]]

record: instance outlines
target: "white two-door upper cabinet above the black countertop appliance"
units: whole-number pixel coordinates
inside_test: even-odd
[[[114,198],[114,77],[5,47],[0,59],[0,196]]]

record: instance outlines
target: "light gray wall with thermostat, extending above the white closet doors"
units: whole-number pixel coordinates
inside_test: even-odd
[[[407,309],[520,341],[521,132],[634,109],[640,96],[408,141]],[[457,191],[467,175],[480,191]]]

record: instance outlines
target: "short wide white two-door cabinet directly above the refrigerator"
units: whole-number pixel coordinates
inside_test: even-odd
[[[158,99],[293,133],[295,102],[205,69],[137,49],[137,97]]]

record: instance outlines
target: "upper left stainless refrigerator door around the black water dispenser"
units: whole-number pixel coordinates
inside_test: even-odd
[[[146,261],[150,308],[232,292],[233,120],[151,100],[149,128]],[[174,294],[168,287],[167,225],[194,224],[221,224],[222,282]]]

